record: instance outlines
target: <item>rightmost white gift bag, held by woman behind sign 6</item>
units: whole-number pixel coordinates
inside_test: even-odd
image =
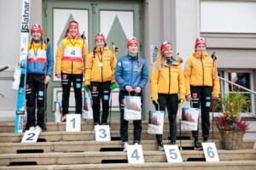
[[[182,130],[197,130],[198,128],[199,109],[183,107],[181,129]]]

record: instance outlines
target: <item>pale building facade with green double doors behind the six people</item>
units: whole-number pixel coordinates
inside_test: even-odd
[[[218,75],[231,82],[241,84],[255,91],[256,88],[256,0],[32,0],[31,21],[44,28],[54,48],[65,34],[70,20],[79,21],[79,31],[85,32],[89,50],[94,48],[94,35],[102,32],[107,37],[108,47],[115,42],[125,55],[126,39],[135,36],[140,42],[140,56],[150,65],[154,49],[164,41],[172,42],[174,54],[179,53],[183,61],[193,51],[196,37],[206,37],[208,54],[217,56]],[[15,120],[16,92],[11,89],[13,74],[19,60],[21,2],[2,0],[0,2],[0,117],[2,122]],[[176,55],[174,56],[176,57]],[[184,64],[184,63],[183,63]],[[225,88],[221,82],[222,93]],[[247,94],[247,92],[244,92]],[[118,89],[113,92],[113,118],[119,120]],[[144,89],[143,118],[153,109],[149,82]],[[255,116],[255,97],[245,116]],[[47,117],[54,121],[54,102],[61,99],[61,82],[52,77],[48,87]],[[189,105],[186,103],[185,105]],[[74,97],[71,94],[70,111],[74,111]]]

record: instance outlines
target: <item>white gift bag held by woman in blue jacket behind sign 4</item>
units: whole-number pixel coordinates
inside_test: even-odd
[[[142,119],[142,102],[140,96],[125,96],[124,119],[126,121]]]

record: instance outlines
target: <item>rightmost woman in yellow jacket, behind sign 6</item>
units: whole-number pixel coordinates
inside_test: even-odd
[[[208,56],[206,48],[205,38],[196,38],[195,53],[186,61],[184,68],[186,100],[191,101],[191,106],[194,108],[200,108],[201,105],[201,129],[204,142],[207,142],[209,137],[211,99],[218,98],[219,94],[217,65],[215,60]],[[195,139],[195,150],[201,150],[198,130],[192,131],[192,135]]]

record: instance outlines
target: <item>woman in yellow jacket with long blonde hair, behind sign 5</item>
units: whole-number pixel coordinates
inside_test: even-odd
[[[172,58],[172,45],[164,42],[156,61],[152,65],[150,76],[150,92],[155,109],[168,111],[170,122],[171,144],[176,144],[177,138],[177,108],[185,98],[183,68],[179,60]],[[179,96],[177,95],[179,94]],[[156,134],[159,151],[164,151],[162,134]]]

